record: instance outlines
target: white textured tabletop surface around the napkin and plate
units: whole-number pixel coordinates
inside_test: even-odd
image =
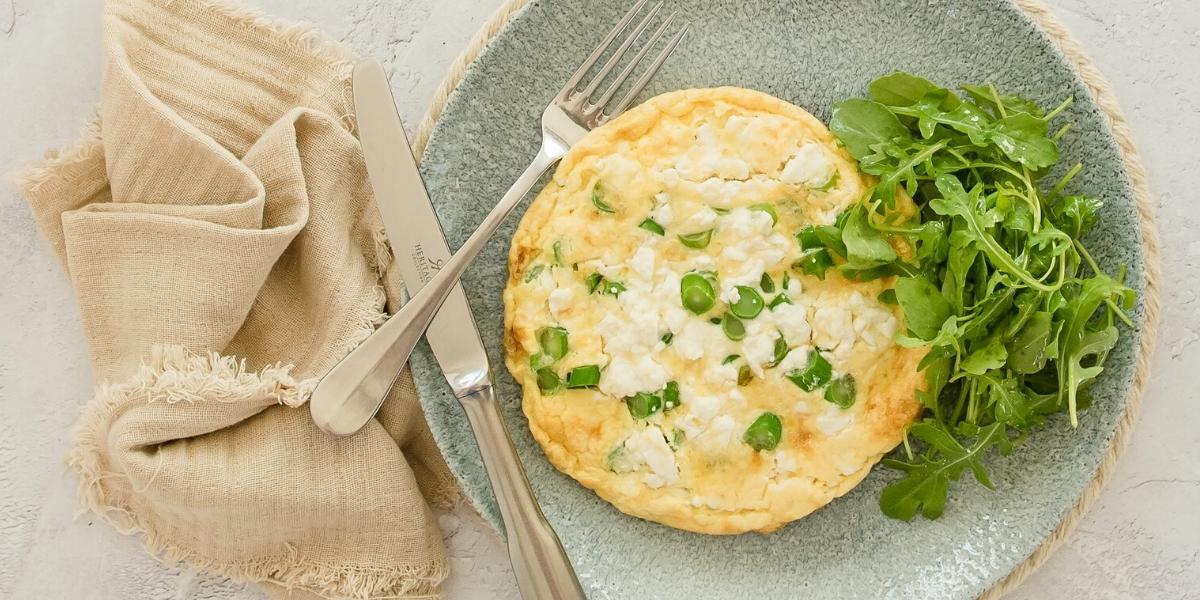
[[[380,58],[415,125],[499,0],[247,0]],[[968,0],[965,0],[968,1]],[[1163,239],[1163,326],[1133,444],[1096,508],[1010,598],[1200,598],[1200,2],[1050,0],[1116,88],[1148,168]],[[100,84],[98,0],[0,0],[0,174],[72,140]],[[71,289],[24,200],[0,186],[0,598],[259,599],[163,566],[76,518],[62,455],[88,397]],[[440,517],[450,599],[515,599],[504,550],[467,514]]]

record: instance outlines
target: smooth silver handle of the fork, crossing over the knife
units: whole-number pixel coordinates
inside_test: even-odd
[[[425,335],[438,308],[504,217],[559,158],[565,148],[542,143],[541,150],[475,233],[400,311],[317,384],[310,398],[313,421],[329,433],[348,436],[362,428],[383,406],[396,376]],[[470,391],[470,390],[466,390]]]

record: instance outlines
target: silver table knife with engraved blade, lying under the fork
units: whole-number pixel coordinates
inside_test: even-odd
[[[354,108],[371,187],[409,295],[450,258],[445,235],[421,181],[383,65],[354,67]],[[462,403],[504,518],[509,558],[526,600],[582,600],[570,558],[538,508],[492,391],[487,354],[462,286],[455,287],[426,331],[446,383]],[[313,407],[313,415],[318,409]],[[319,422],[319,421],[318,421]]]

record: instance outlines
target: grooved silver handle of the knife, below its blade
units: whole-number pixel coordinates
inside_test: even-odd
[[[571,559],[550,527],[500,416],[492,388],[460,398],[479,440],[487,479],[504,517],[509,560],[524,600],[586,600]]]

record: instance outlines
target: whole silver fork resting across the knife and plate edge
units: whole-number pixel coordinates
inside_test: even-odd
[[[600,84],[617,66],[620,59],[634,46],[635,41],[649,28],[654,17],[662,7],[662,2],[655,4],[646,11],[641,19],[638,14],[643,12],[648,0],[640,0],[617,23],[617,26],[605,36],[604,40],[592,50],[587,60],[575,71],[575,74],[563,85],[554,100],[550,102],[541,114],[541,149],[524,173],[517,178],[512,187],[504,193],[496,208],[484,218],[470,238],[458,248],[458,252],[446,262],[437,275],[394,317],[379,326],[374,334],[348,354],[341,362],[320,380],[312,392],[313,404],[338,406],[342,412],[337,419],[322,422],[322,427],[330,433],[346,436],[354,433],[379,410],[388,390],[391,389],[396,376],[400,374],[408,356],[413,353],[416,342],[425,334],[430,322],[433,320],[442,302],[454,289],[455,283],[462,277],[467,265],[479,254],[487,240],[496,233],[504,218],[521,202],[526,193],[538,182],[546,170],[557,163],[563,155],[570,150],[571,145],[580,140],[589,130],[604,125],[613,116],[620,114],[634,98],[646,88],[650,78],[658,73],[659,68],[667,60],[667,56],[679,46],[684,34],[688,32],[688,24],[684,23],[679,30],[672,35],[666,46],[655,55],[649,67],[634,82],[629,91],[616,104],[611,104],[618,89],[629,80],[637,66],[650,53],[652,48],[664,38],[674,23],[674,14],[671,14],[658,26],[654,34],[646,41],[642,48],[634,55],[629,64],[622,68],[613,82],[605,89],[599,98],[593,100],[593,94]],[[634,24],[634,20],[637,23]],[[616,40],[632,25],[632,31],[624,38],[620,46],[613,50],[612,56],[605,61],[596,74],[582,90],[576,88],[599,60],[600,56],[613,46]],[[606,110],[606,108],[608,110]],[[480,379],[480,385],[486,384],[486,378]]]

